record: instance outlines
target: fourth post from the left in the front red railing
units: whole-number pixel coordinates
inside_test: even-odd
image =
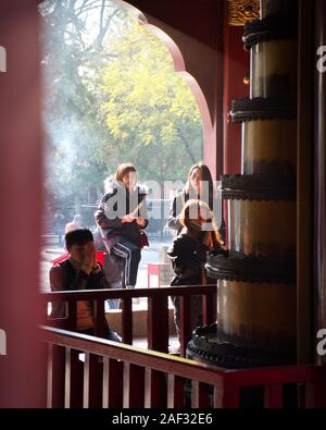
[[[123,363],[104,358],[103,368],[103,408],[123,406]]]

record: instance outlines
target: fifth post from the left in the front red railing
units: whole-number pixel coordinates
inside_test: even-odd
[[[124,408],[143,408],[143,367],[130,363],[124,364]]]

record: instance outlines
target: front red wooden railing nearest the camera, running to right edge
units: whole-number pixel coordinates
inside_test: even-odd
[[[226,370],[65,330],[41,331],[49,354],[48,407],[237,408],[243,389],[260,388],[262,406],[280,408],[289,386],[292,406],[326,407],[325,367]]]

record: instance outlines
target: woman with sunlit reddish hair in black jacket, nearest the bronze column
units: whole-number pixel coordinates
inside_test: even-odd
[[[206,278],[205,261],[209,251],[216,251],[223,244],[214,223],[210,207],[200,200],[188,200],[179,216],[180,233],[167,250],[175,278],[171,286],[204,285],[212,281]],[[177,334],[180,333],[179,297],[172,297]],[[191,297],[191,325],[202,324],[201,296]]]

